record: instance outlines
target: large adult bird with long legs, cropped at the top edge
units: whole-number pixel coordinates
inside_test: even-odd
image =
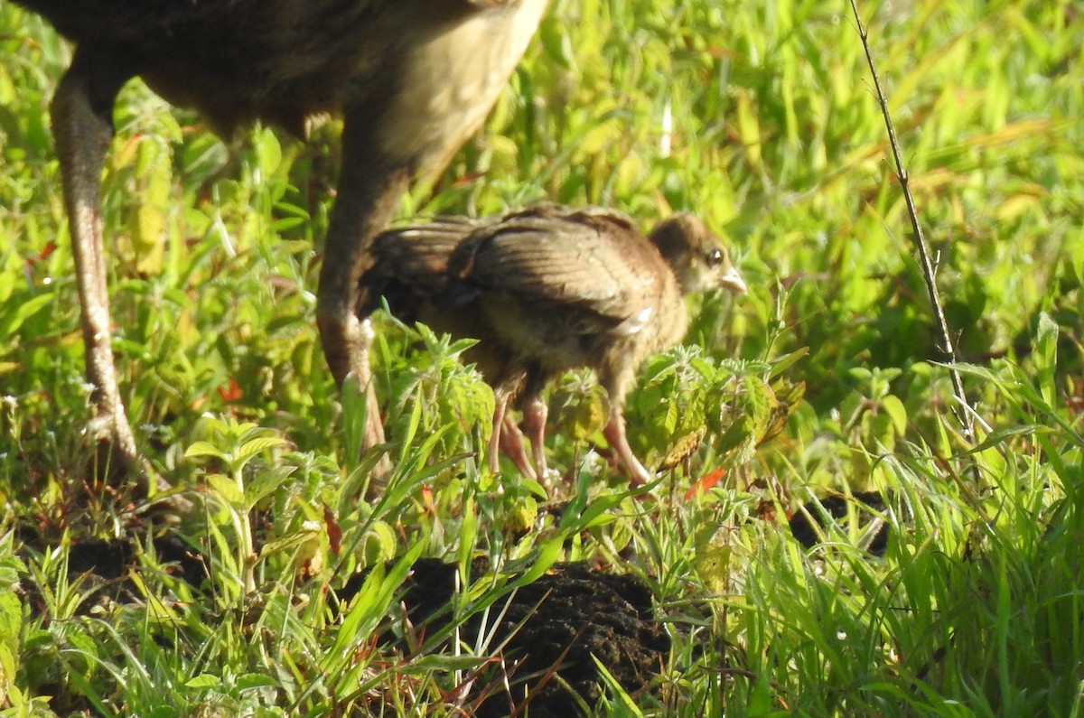
[[[366,248],[417,175],[478,128],[546,0],[18,0],[76,43],[52,103],[82,308],[92,434],[139,464],[113,366],[100,178],[120,87],[140,76],[219,129],[261,119],[304,133],[344,116],[343,170],[320,275],[318,323],[338,383],[369,383],[359,322]],[[370,445],[383,440],[370,392]]]

